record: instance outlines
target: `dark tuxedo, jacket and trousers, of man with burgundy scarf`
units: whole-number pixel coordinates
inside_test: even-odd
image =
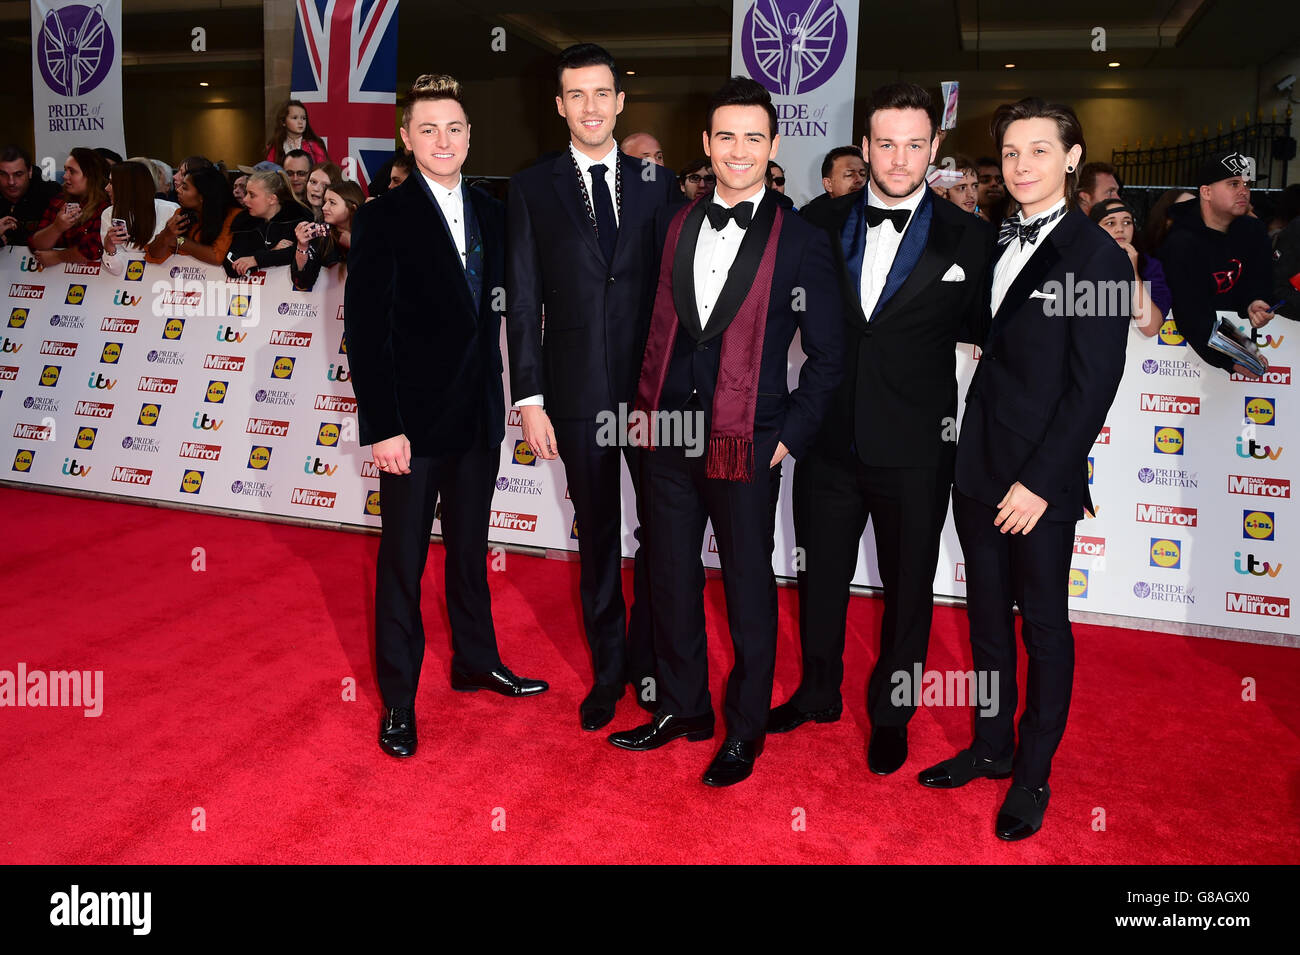
[[[701,326],[694,257],[701,230],[712,227],[705,218],[711,200],[706,197],[686,213],[677,242],[672,298],[680,327],[658,404],[664,412],[698,412],[706,421],[705,435],[712,425],[722,333],[754,285],[777,209],[776,194],[768,190],[745,230],[708,322]],[[656,217],[660,256],[670,221],[679,210],[666,209]],[[811,447],[841,374],[840,322],[826,235],[785,210],[758,369],[751,481],[707,478],[707,453],[690,456],[682,446],[663,446],[646,455],[660,712],[682,717],[711,712],[699,550],[706,521],[712,520],[736,652],[727,681],[727,734],[754,741],[766,733],[776,660],[772,547],[781,476],[780,465],[768,468],[768,461],[779,442],[796,457]],[[798,387],[789,391],[786,364],[796,330],[807,360]]]

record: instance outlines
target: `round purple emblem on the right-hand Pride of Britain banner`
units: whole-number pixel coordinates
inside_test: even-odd
[[[758,0],[740,35],[749,75],[770,92],[797,96],[835,75],[849,27],[835,0]]]

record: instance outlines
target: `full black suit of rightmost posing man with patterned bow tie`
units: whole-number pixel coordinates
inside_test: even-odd
[[[1036,244],[993,314],[966,398],[953,489],[974,664],[998,678],[996,715],[976,712],[975,748],[994,759],[1014,748],[1015,782],[1031,789],[1046,782],[1069,715],[1074,529],[1091,507],[1088,451],[1123,376],[1131,320],[1131,300],[1106,305],[1101,294],[1093,313],[1071,314],[1067,275],[1075,290],[1132,282],[1127,256],[1082,212],[1067,212]],[[1048,502],[1028,534],[993,525],[1015,482]],[[1013,603],[1030,655],[1018,747]]]

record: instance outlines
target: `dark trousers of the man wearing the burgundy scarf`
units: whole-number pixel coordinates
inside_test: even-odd
[[[690,405],[688,405],[689,408]],[[654,591],[659,711],[703,716],[708,696],[705,570],[699,551],[714,524],[736,663],[727,680],[727,735],[762,739],[776,667],[776,577],[772,548],[781,466],[768,468],[776,435],[754,435],[750,483],[705,477],[706,456],[682,447],[646,452],[647,518],[654,528]]]

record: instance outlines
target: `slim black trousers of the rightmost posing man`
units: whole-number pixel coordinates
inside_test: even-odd
[[[953,517],[966,560],[966,612],[976,676],[997,676],[997,712],[975,711],[975,752],[1002,759],[1015,754],[1014,778],[1037,789],[1048,781],[1052,756],[1065,734],[1074,682],[1070,629],[1070,559],[1074,521],[1043,521],[1024,534],[993,526],[997,509],[953,491]],[[1020,742],[1015,745],[1015,618],[1030,655]]]

